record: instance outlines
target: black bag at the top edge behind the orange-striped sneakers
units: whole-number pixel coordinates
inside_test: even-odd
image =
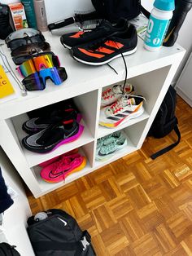
[[[91,0],[103,19],[116,22],[120,18],[132,20],[141,11],[140,0]]]

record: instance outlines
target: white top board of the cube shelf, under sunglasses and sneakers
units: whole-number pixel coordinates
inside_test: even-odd
[[[116,74],[107,64],[95,67],[78,63],[72,59],[68,49],[63,48],[59,36],[53,36],[50,32],[46,32],[44,35],[46,42],[50,43],[51,51],[59,56],[61,66],[66,68],[68,79],[60,86],[55,86],[52,82],[47,81],[45,90],[31,91],[28,92],[28,95],[22,96],[19,86],[11,74],[7,73],[14,86],[15,95],[13,99],[0,99],[0,119],[14,117],[20,113],[26,113],[124,80],[124,61],[121,57],[110,62],[111,67],[116,69],[118,73]],[[11,68],[15,71],[16,66],[11,60],[11,51],[7,49],[6,45],[2,46],[2,51],[7,55]],[[124,57],[128,67],[128,78],[167,66],[176,60],[181,61],[184,54],[185,50],[177,44],[172,47],[163,46],[160,51],[146,51],[142,39],[138,38],[136,53]],[[146,66],[148,69],[145,70]],[[22,77],[16,71],[15,74],[21,81]]]

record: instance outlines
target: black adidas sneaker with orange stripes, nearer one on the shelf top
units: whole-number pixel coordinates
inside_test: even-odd
[[[137,50],[137,31],[133,24],[124,32],[116,33],[100,42],[72,47],[72,57],[84,64],[103,65],[122,55],[131,55]]]

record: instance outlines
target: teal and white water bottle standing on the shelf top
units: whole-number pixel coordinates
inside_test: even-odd
[[[146,50],[158,51],[161,48],[174,9],[174,0],[155,0],[144,39]]]

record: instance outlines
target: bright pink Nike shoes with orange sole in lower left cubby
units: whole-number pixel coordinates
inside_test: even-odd
[[[42,163],[40,175],[46,182],[58,183],[64,181],[69,174],[82,170],[85,165],[86,158],[73,150]]]

